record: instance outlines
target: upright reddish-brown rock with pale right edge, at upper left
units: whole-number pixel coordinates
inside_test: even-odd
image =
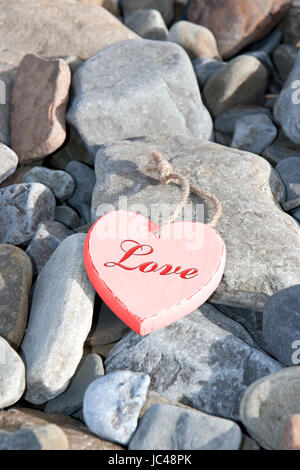
[[[21,163],[43,158],[64,143],[70,84],[64,60],[36,54],[22,60],[11,95],[11,146]]]

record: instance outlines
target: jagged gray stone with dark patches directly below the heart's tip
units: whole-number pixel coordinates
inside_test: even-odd
[[[150,335],[128,333],[108,354],[106,371],[144,372],[151,377],[151,390],[209,414],[237,419],[247,386],[282,367],[244,337],[240,325],[204,304]]]

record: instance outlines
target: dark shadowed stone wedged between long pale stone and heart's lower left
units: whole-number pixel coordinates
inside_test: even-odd
[[[130,328],[105,303],[102,303],[87,343],[91,346],[114,343],[128,331],[130,331]]]

